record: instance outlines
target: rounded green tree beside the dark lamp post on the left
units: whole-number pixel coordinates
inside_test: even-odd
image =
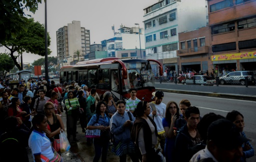
[[[13,53],[17,51],[19,54],[23,52],[38,54],[41,56],[45,55],[44,50],[44,26],[40,24],[38,21],[34,22],[33,18],[28,19],[28,29],[27,32],[23,31],[19,36],[15,38],[10,38],[7,41],[2,43],[3,46],[10,50],[10,56],[14,62],[14,64],[21,70],[20,65],[18,64],[16,58]],[[50,45],[50,36],[48,36],[48,46]],[[50,54],[50,49],[48,48],[48,54]],[[44,63],[43,63],[44,64]]]

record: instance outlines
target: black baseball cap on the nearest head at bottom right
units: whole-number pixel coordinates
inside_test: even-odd
[[[222,118],[212,122],[207,131],[207,140],[212,140],[216,146],[233,149],[249,141],[242,136],[239,129],[229,120]]]

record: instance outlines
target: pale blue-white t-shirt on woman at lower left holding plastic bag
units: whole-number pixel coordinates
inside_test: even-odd
[[[28,139],[28,146],[30,147],[34,159],[34,155],[42,154],[48,159],[54,157],[52,147],[50,145],[50,139],[45,133],[40,133],[37,130],[33,130]],[[44,162],[41,158],[41,160]]]

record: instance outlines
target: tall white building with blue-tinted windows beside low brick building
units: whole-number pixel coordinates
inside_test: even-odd
[[[146,58],[158,59],[164,69],[178,70],[178,32],[207,25],[206,1],[159,0],[143,10]]]

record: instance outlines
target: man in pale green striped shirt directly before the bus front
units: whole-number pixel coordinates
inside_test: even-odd
[[[133,113],[140,100],[136,97],[137,90],[135,88],[130,88],[129,93],[130,98],[126,100],[125,110]]]

